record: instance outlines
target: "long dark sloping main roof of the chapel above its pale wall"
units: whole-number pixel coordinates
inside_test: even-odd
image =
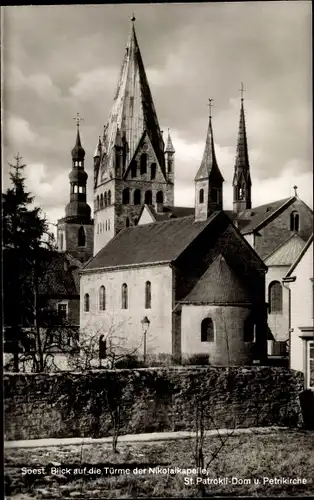
[[[170,262],[176,259],[219,213],[221,212],[214,212],[203,222],[195,222],[194,216],[190,216],[125,228],[84,266],[84,270]]]

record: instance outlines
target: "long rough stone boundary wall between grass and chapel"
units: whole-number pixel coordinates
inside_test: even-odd
[[[121,409],[121,434],[301,423],[300,372],[278,367],[172,367],[5,374],[5,439],[101,437]]]

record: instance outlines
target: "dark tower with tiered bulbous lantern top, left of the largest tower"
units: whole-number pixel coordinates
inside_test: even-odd
[[[57,242],[60,252],[69,252],[85,262],[93,255],[93,220],[91,208],[86,202],[87,173],[84,170],[85,151],[81,144],[80,118],[75,118],[76,142],[72,149],[70,179],[70,202],[65,207],[65,217],[57,223]]]

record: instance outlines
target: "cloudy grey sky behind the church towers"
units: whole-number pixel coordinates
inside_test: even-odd
[[[311,3],[302,1],[2,8],[4,185],[19,152],[37,204],[51,222],[62,217],[79,111],[93,205],[93,152],[133,11],[159,123],[176,149],[175,204],[194,204],[211,97],[232,207],[243,81],[253,206],[291,196],[294,184],[312,206]]]

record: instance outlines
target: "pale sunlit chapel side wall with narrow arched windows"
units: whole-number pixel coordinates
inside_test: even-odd
[[[145,308],[145,284],[151,283],[151,307]],[[128,287],[127,309],[122,309],[122,285]],[[127,342],[128,350],[136,349],[143,357],[143,330],[141,320],[150,321],[147,332],[147,354],[171,357],[172,269],[165,265],[103,270],[81,276],[82,334],[111,332]],[[106,310],[99,310],[99,290],[106,289]],[[90,311],[84,311],[84,296],[90,297]],[[127,339],[125,341],[125,339]]]

